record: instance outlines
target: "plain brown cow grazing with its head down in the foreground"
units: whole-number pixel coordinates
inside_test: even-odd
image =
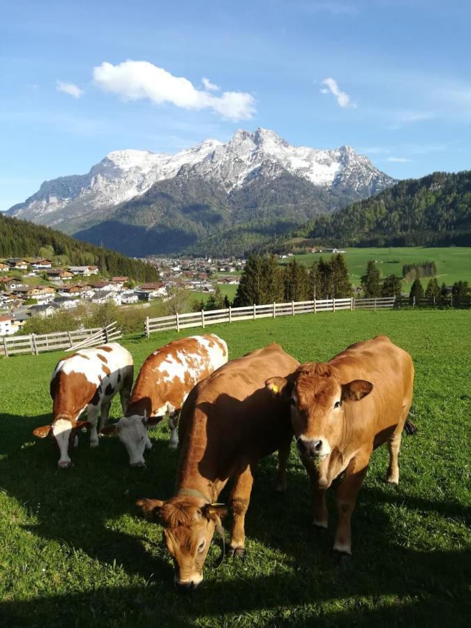
[[[167,502],[137,502],[148,516],[160,516],[179,590],[196,588],[203,579],[209,544],[225,515],[225,508],[214,502],[227,480],[234,479],[230,550],[236,555],[244,553],[244,518],[255,468],[277,449],[277,488],[285,489],[292,440],[289,406],[278,403],[264,382],[275,373],[293,373],[298,364],[279,345],[269,345],[219,368],[184,403],[176,493]]]

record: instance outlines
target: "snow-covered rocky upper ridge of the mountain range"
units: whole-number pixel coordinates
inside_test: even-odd
[[[364,197],[394,184],[368,158],[351,147],[318,150],[294,147],[274,131],[237,130],[229,142],[206,140],[175,155],[121,150],[108,154],[87,174],[45,181],[38,192],[8,214],[65,231],[80,226],[87,215],[135,199],[159,181],[200,177],[227,195],[263,177],[276,179],[283,172],[316,188],[345,188]]]

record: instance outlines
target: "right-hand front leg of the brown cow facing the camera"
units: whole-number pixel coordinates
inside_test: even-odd
[[[335,533],[334,552],[341,554],[352,553],[352,532],[350,520],[357,495],[361,484],[368,470],[371,449],[359,451],[357,456],[352,458],[345,470],[345,478],[337,489],[336,505],[338,510],[338,524]]]

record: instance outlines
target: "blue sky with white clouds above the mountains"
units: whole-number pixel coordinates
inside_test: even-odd
[[[468,169],[470,24],[466,0],[3,0],[0,209],[258,126],[397,178]]]

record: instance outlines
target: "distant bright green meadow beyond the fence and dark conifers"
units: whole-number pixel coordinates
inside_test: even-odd
[[[345,249],[345,262],[350,273],[350,281],[353,285],[360,285],[361,276],[365,274],[366,264],[369,260],[377,260],[381,276],[402,276],[403,264],[413,262],[433,261],[437,264],[438,282],[452,285],[455,281],[469,281],[471,283],[471,247],[449,246],[444,248],[426,248],[425,246],[403,248],[347,248]],[[306,266],[318,260],[319,253],[306,253],[295,256],[299,262]],[[329,259],[329,253],[323,253],[322,257]],[[283,260],[285,264],[289,260]],[[422,283],[426,285],[428,278]],[[410,283],[404,284],[404,290],[410,290]]]

